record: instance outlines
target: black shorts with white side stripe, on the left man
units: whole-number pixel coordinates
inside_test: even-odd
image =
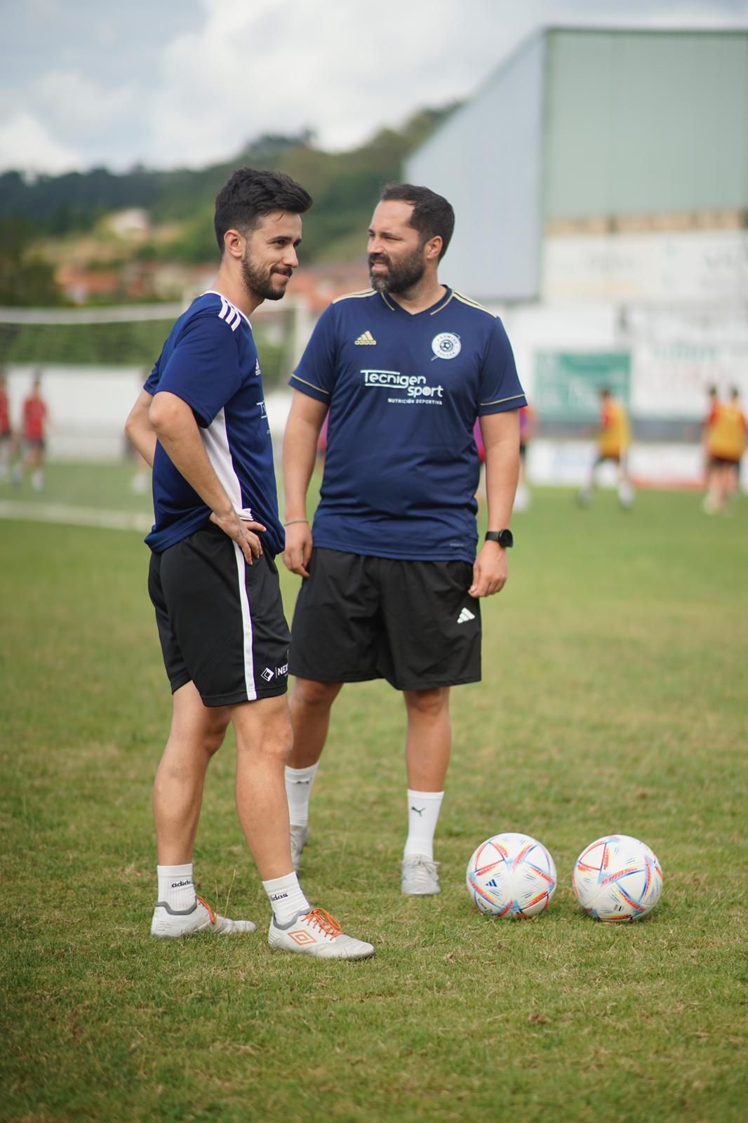
[[[208,523],[152,554],[148,593],[172,693],[192,681],[208,706],[285,693],[291,636],[267,554],[247,565]]]

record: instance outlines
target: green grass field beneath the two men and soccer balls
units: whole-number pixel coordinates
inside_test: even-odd
[[[42,501],[146,511],[131,473],[51,468]],[[748,501],[708,519],[693,494],[624,513],[537,491],[514,529],[483,683],[454,694],[441,896],[399,893],[400,700],[374,683],[337,703],[302,883],[377,951],[320,964],[265,942],[230,743],[195,874],[258,931],[149,939],[170,695],[147,550],[135,531],[0,521],[0,1119],[746,1119]],[[290,613],[295,578],[284,592]],[[468,900],[467,859],[503,830],[555,857],[537,920]],[[613,831],[663,864],[640,924],[595,923],[572,894],[575,857]]]

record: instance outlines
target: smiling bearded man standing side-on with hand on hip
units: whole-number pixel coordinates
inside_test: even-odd
[[[248,320],[263,300],[283,296],[310,204],[288,175],[234,173],[216,200],[216,286],[172,328],[126,426],[153,466],[148,592],[173,694],[154,786],[158,897],[150,932],[173,939],[255,929],[217,915],[193,883],[206,772],[231,722],[237,812],[271,902],[271,946],[362,959],[373,947],[311,907],[291,859],[283,779],[290,636],[273,560],[284,536]]]

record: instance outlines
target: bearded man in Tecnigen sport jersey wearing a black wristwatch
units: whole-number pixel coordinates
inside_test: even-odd
[[[291,378],[283,446],[283,560],[303,578],[286,767],[294,865],[330,707],[344,683],[385,678],[405,703],[401,889],[417,896],[439,892],[434,833],[451,747],[449,688],[481,677],[480,599],[507,581],[526,404],[501,321],[438,280],[453,227],[440,195],[385,188],[368,231],[373,291],[341,298],[320,318]],[[307,490],[328,409],[310,528]],[[477,557],[476,418],[489,520]]]

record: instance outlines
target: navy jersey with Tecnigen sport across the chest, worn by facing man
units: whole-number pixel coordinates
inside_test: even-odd
[[[500,319],[449,289],[414,316],[372,290],[343,296],[291,385],[330,407],[316,546],[475,559],[475,419],[526,404]]]

